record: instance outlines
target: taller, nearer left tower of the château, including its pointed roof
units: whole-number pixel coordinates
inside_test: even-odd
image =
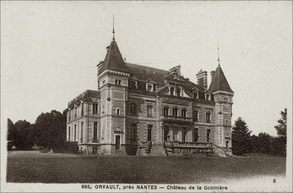
[[[100,90],[100,154],[125,154],[126,100],[130,73],[114,38],[98,64]]]

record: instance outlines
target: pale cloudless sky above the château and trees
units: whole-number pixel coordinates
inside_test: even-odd
[[[280,111],[292,114],[292,1],[1,1],[1,125],[96,90],[113,14],[126,62],[181,65],[195,83],[202,69],[210,84],[218,40],[232,123],[276,136]]]

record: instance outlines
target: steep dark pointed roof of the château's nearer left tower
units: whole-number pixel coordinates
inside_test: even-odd
[[[102,64],[102,68],[99,70],[98,74],[103,72],[104,70],[115,70],[122,72],[129,72],[126,65],[124,64],[124,60],[119,51],[117,43],[115,39],[112,40],[108,50],[104,62]]]

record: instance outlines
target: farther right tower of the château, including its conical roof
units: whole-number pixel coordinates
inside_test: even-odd
[[[214,95],[214,101],[216,102],[215,144],[231,149],[231,117],[234,92],[231,90],[220,64],[213,74],[209,91]]]

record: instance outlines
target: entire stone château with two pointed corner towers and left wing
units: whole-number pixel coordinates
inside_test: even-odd
[[[232,155],[234,92],[220,65],[210,76],[195,72],[195,84],[180,65],[161,70],[126,63],[114,37],[107,49],[97,65],[97,90],[68,103],[67,141],[88,155]]]

